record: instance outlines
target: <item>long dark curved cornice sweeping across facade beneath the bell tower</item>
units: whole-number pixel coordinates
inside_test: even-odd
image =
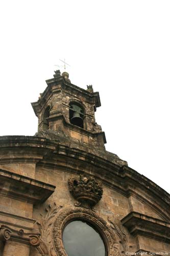
[[[26,141],[25,141],[26,138]],[[140,201],[154,202],[156,212],[169,220],[170,195],[154,182],[128,167],[125,161],[106,151],[93,150],[81,145],[62,144],[55,140],[29,136],[4,136],[0,138],[0,164],[14,162],[31,162],[39,156],[37,164],[48,168],[61,168],[66,172],[82,173],[82,163],[93,169],[93,175],[100,177],[103,184],[116,189],[129,197],[134,195]],[[78,148],[79,147],[79,148]],[[81,150],[80,148],[83,148]],[[17,152],[17,154],[16,154]],[[26,158],[23,152],[29,152]],[[30,159],[29,159],[30,158]],[[71,159],[68,161],[67,158]],[[5,160],[4,160],[5,159]],[[57,159],[60,159],[58,163]],[[77,166],[71,165],[75,159]],[[85,171],[86,172],[86,171]],[[88,174],[88,173],[87,173]],[[147,198],[144,196],[147,194]],[[163,217],[164,216],[164,217]]]

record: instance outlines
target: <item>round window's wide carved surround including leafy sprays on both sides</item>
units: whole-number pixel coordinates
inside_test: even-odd
[[[74,220],[89,223],[101,234],[106,247],[106,255],[120,256],[125,253],[124,233],[113,220],[111,226],[91,209],[62,207],[55,203],[53,206],[48,205],[45,210],[46,214],[41,215],[41,221],[37,223],[41,234],[40,245],[37,250],[41,255],[67,256],[62,242],[62,232],[67,223]],[[116,227],[116,230],[113,226]],[[123,236],[120,236],[120,234],[123,234]]]

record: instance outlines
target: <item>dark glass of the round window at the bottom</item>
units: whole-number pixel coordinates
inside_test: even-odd
[[[68,256],[105,256],[100,234],[82,221],[72,221],[64,229],[63,244]]]

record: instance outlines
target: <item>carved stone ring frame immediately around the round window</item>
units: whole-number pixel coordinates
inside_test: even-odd
[[[57,256],[67,256],[62,242],[62,232],[66,224],[74,220],[85,221],[93,226],[96,230],[98,230],[105,243],[106,255],[115,255],[114,245],[117,244],[118,241],[116,240],[116,236],[110,225],[108,225],[107,222],[105,222],[91,209],[82,207],[69,207],[62,209],[59,212],[53,225],[53,244]]]

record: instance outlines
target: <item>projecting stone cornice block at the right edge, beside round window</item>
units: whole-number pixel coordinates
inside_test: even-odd
[[[158,241],[170,242],[169,222],[135,211],[130,212],[121,222],[133,236],[141,235]]]

